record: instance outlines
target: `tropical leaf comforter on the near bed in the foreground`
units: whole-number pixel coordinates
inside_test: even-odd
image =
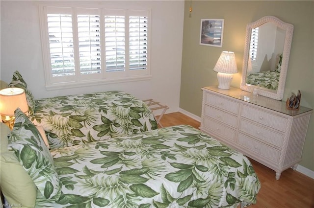
[[[245,156],[187,125],[51,153],[60,197],[38,208],[235,208],[261,186]]]

